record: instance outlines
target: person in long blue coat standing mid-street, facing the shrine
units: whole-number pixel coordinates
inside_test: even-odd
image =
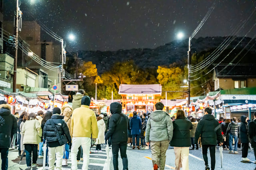
[[[133,112],[133,117],[130,120],[130,128],[132,129],[132,143],[133,147],[135,148],[135,138],[136,138],[136,144],[137,148],[140,149],[140,128],[141,128],[141,120],[137,115],[137,112]]]

